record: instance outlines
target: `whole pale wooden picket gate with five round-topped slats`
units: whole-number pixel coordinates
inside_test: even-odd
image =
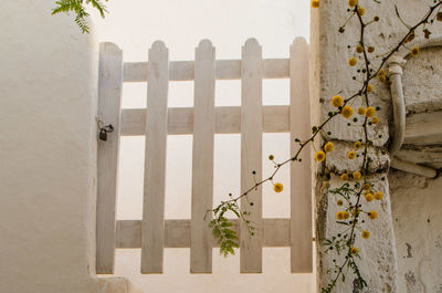
[[[141,248],[141,273],[161,273],[165,248],[190,248],[190,271],[212,271],[213,241],[204,214],[212,208],[214,134],[241,134],[241,188],[262,175],[262,134],[311,134],[308,45],[296,39],[290,59],[262,59],[250,39],[241,60],[215,60],[210,41],[202,41],[194,61],[169,62],[160,41],[149,50],[148,62],[125,63],[113,43],[101,44],[98,116],[114,133],[98,143],[96,271],[113,273],[115,249]],[[290,79],[291,105],[263,106],[262,80]],[[215,107],[217,80],[241,80],[242,106]],[[168,108],[168,84],[194,81],[194,107]],[[147,108],[122,109],[124,82],[147,82]],[[193,134],[192,205],[190,220],[165,219],[166,149],[168,135]],[[146,136],[143,220],[116,220],[118,148],[120,136]],[[292,154],[297,145],[291,142]],[[238,220],[242,273],[262,272],[263,247],[290,247],[293,273],[308,273],[312,260],[311,151],[291,167],[291,218],[263,219],[261,188],[253,193],[251,220],[257,228],[250,238]],[[150,168],[155,166],[155,168]],[[265,176],[265,175],[264,175]],[[244,208],[244,207],[242,207]]]

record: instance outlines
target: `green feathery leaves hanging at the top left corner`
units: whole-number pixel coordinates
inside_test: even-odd
[[[106,2],[108,0],[105,0]],[[86,18],[90,15],[86,11],[86,6],[91,4],[94,9],[98,10],[102,18],[107,12],[106,7],[101,0],[59,0],[55,2],[56,7],[52,10],[52,14],[59,13],[75,13],[75,23],[82,30],[82,33],[88,33],[90,27],[87,25]]]

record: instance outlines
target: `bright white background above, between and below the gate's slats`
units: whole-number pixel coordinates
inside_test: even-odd
[[[165,41],[170,60],[193,60],[194,48],[209,39],[217,48],[217,59],[240,59],[241,46],[256,38],[264,57],[288,57],[295,36],[309,35],[307,0],[110,0],[109,14],[103,21],[93,15],[99,41],[114,42],[124,50],[125,61],[147,61],[148,48]],[[192,82],[175,82],[169,87],[169,107],[193,105]],[[123,106],[146,107],[146,84],[125,84]],[[288,104],[288,81],[264,81],[263,104]],[[217,106],[241,105],[239,81],[217,82]],[[272,170],[266,157],[290,156],[288,134],[266,134],[264,175]],[[169,136],[167,163],[166,218],[190,218],[192,137]],[[228,192],[240,190],[240,136],[215,136],[214,202]],[[122,139],[118,219],[141,219],[144,138]],[[277,181],[284,192],[264,187],[265,218],[290,217],[288,169]],[[189,250],[165,252],[162,275],[139,274],[139,250],[118,250],[116,274],[129,278],[145,293],[309,293],[314,275],[290,273],[290,249],[264,249],[263,274],[239,274],[239,257],[227,259],[213,250],[213,274],[189,273]]]

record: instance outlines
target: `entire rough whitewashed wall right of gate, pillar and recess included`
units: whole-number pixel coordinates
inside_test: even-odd
[[[430,2],[424,0],[401,0],[396,1],[399,6],[402,18],[409,23],[415,23],[420,20],[423,13],[427,11]],[[373,1],[360,0],[359,4],[366,8],[365,19],[373,18],[375,15],[380,17],[379,23],[371,24],[367,28],[368,34],[366,43],[376,46],[377,53],[383,53],[388,48],[398,40],[406,32],[406,28],[394,17],[394,1],[382,1],[382,4],[376,4]],[[347,25],[346,31],[343,34],[338,33],[339,27],[345,22],[347,18],[347,1],[332,1],[322,0],[320,8],[313,11],[312,21],[312,103],[313,108],[316,108],[316,123],[327,116],[328,111],[332,106],[329,104],[330,97],[338,91],[345,91],[345,93],[352,93],[355,90],[360,87],[359,83],[350,82],[354,72],[349,70],[347,64],[348,57],[352,55],[354,49],[348,50],[347,45],[356,45],[358,42],[359,31],[354,25]],[[394,28],[394,29],[392,29]],[[441,24],[435,23],[432,29],[433,35],[440,34],[442,31]],[[423,54],[422,54],[423,55]],[[440,57],[440,54],[439,54]],[[439,60],[433,60],[435,64],[440,64]],[[427,62],[427,61],[425,61]],[[418,59],[414,63],[421,63]],[[428,62],[427,62],[428,63]],[[427,64],[425,63],[425,64]],[[409,64],[407,64],[408,66]],[[427,77],[425,77],[427,76]],[[428,77],[431,79],[428,79]],[[406,80],[413,80],[412,83],[407,84]],[[440,105],[433,96],[427,94],[435,94],[435,97],[440,96],[440,81],[436,81],[436,74],[430,72],[415,73],[414,76],[410,75],[404,79],[406,92],[411,93],[409,100],[406,102],[408,106],[414,107],[411,111],[422,112],[422,108],[417,106],[415,93],[420,92],[423,104],[430,106],[431,109],[435,109]],[[418,88],[418,84],[430,82],[438,84],[439,87],[428,88],[422,92],[424,87]],[[420,85],[419,85],[420,86]],[[423,94],[425,93],[425,94]],[[324,98],[326,103],[319,104],[319,98]],[[407,98],[407,97],[406,97]],[[389,122],[391,122],[391,97],[387,85],[380,83],[375,84],[375,92],[372,101],[376,101],[377,105],[381,106],[379,117],[381,123],[375,127],[375,145],[378,149],[387,146],[389,138]],[[429,103],[431,102],[431,103]],[[421,105],[422,107],[423,105]],[[354,104],[354,107],[358,107],[358,104]],[[352,140],[359,135],[346,127],[344,119],[336,119],[328,128],[333,135],[329,139],[339,140]],[[381,137],[379,136],[381,135]],[[338,143],[337,148],[344,147],[345,144]],[[376,170],[381,176],[387,176],[388,170],[386,169],[388,159],[378,157],[383,164],[376,166]],[[354,168],[354,164],[347,164],[346,160],[339,159],[338,157],[332,158],[329,164],[332,172],[343,171],[346,168]],[[434,242],[439,237],[439,232],[434,227],[440,227],[440,219],[434,217],[435,207],[431,207],[430,202],[434,202],[436,206],[439,202],[438,195],[435,193],[439,186],[439,180],[429,181],[428,189],[422,187],[411,188],[412,184],[404,185],[410,186],[407,191],[404,188],[399,188],[408,179],[401,179],[396,176],[389,176],[389,180],[379,182],[380,188],[386,192],[383,203],[377,207],[381,210],[381,216],[375,227],[370,227],[370,239],[367,242],[358,242],[362,249],[362,258],[365,261],[360,262],[360,269],[362,274],[368,279],[369,290],[368,292],[438,292],[440,290],[440,260],[434,258],[432,261],[428,261],[428,255],[431,252],[439,251],[438,243]],[[389,181],[389,182],[388,182]],[[419,181],[413,179],[411,182]],[[327,184],[337,184],[339,179],[332,176],[332,180],[325,177],[318,177],[317,180],[317,199],[318,199],[318,229],[320,233],[333,233],[334,214],[336,212],[336,205],[334,202],[327,202],[326,192],[323,190],[327,189]],[[389,185],[392,188],[389,188]],[[324,188],[324,189],[320,189]],[[390,190],[390,192],[388,192]],[[423,199],[425,197],[425,199]],[[409,200],[413,198],[412,205]],[[421,198],[419,201],[418,198]],[[391,202],[391,206],[390,206]],[[391,207],[391,208],[390,208]],[[440,205],[438,206],[440,209]],[[421,221],[423,214],[429,216],[431,227],[427,227]],[[398,221],[396,220],[398,219]],[[322,231],[320,231],[322,228]],[[411,236],[410,233],[413,233]],[[429,236],[432,236],[434,240],[429,240]],[[419,239],[419,241],[418,241]],[[412,241],[414,240],[414,242]],[[410,242],[407,242],[410,241]],[[413,260],[407,259],[406,243],[413,242],[412,250],[414,253]],[[359,248],[360,248],[359,247]],[[439,252],[440,253],[440,252]],[[406,259],[403,259],[406,258]],[[430,257],[431,258],[431,257]],[[330,263],[329,255],[320,255],[319,260],[322,265],[318,268],[318,275],[323,285],[327,284],[329,276],[326,275],[325,269]],[[439,263],[439,264],[438,264]],[[425,266],[424,266],[425,265]],[[410,271],[412,274],[410,274]],[[399,272],[399,276],[398,276]],[[428,274],[427,274],[428,273]],[[410,286],[410,279],[414,279],[414,285]],[[411,282],[411,283],[413,283]],[[338,292],[359,292],[357,286],[354,286],[352,282],[346,282],[346,284],[339,285]]]

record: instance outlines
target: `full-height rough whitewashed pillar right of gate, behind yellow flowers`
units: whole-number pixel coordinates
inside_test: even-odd
[[[367,28],[368,33],[366,36],[366,44],[376,46],[377,53],[386,52],[399,38],[406,32],[404,27],[394,17],[394,2],[382,1],[381,4],[375,1],[359,1],[366,8],[365,20],[372,19],[375,15],[380,17],[378,23],[371,24]],[[413,23],[420,20],[421,15],[427,11],[429,1],[424,0],[402,0],[400,1],[399,9],[402,18]],[[351,70],[347,60],[354,55],[354,46],[358,43],[358,25],[354,19],[349,25],[345,28],[345,33],[338,33],[339,27],[346,21],[348,17],[347,1],[332,1],[322,0],[320,8],[313,10],[312,14],[312,104],[313,109],[316,109],[315,119],[313,123],[318,125],[324,121],[328,112],[333,108],[329,101],[330,97],[338,92],[343,91],[345,97],[350,96],[352,93],[360,88],[360,83],[352,82],[355,70]],[[394,29],[392,29],[394,28]],[[438,28],[438,25],[435,25]],[[441,25],[432,30],[434,34],[441,32]],[[351,49],[348,49],[350,45]],[[430,53],[434,54],[434,53]],[[412,63],[414,61],[411,61]],[[417,61],[418,62],[418,61]],[[436,61],[436,63],[440,62]],[[409,64],[407,64],[408,66]],[[421,63],[421,66],[427,66],[431,70],[428,62]],[[427,76],[427,77],[425,77]],[[436,83],[438,73],[425,73],[419,76],[419,81],[413,81],[410,85],[404,84],[406,91],[412,94],[417,90],[415,83],[422,82],[421,77],[425,77],[428,82]],[[408,77],[406,77],[406,81]],[[396,240],[392,229],[392,214],[390,208],[389,181],[387,179],[377,180],[377,178],[387,178],[389,158],[385,158],[389,139],[389,122],[391,122],[391,97],[387,85],[373,82],[375,92],[370,96],[370,102],[381,109],[378,113],[381,123],[372,127],[370,137],[375,142],[373,157],[379,164],[372,168],[376,172],[377,189],[385,191],[385,199],[381,203],[368,203],[373,206],[379,212],[380,218],[376,224],[367,226],[371,231],[369,240],[357,240],[357,245],[361,248],[362,260],[360,261],[360,269],[362,274],[367,278],[369,290],[367,292],[404,292],[398,289],[397,282],[397,251]],[[414,90],[413,90],[414,88]],[[421,97],[434,94],[434,90],[430,92],[419,93]],[[439,90],[440,93],[440,90]],[[431,106],[439,107],[440,101],[429,101]],[[409,100],[408,105],[412,101]],[[354,108],[359,106],[358,103],[352,104]],[[335,142],[336,151],[346,151],[349,143],[355,142],[360,137],[360,127],[347,127],[347,122],[343,117],[337,117],[326,128],[327,140]],[[317,168],[317,182],[316,182],[316,200],[317,200],[317,231],[318,237],[327,237],[336,233],[335,214],[337,207],[334,198],[329,195],[328,190],[335,186],[341,185],[343,181],[336,176],[344,171],[355,169],[355,163],[349,164],[343,156],[330,156],[323,167]],[[330,179],[327,175],[330,175]],[[411,193],[410,193],[411,195]],[[394,202],[398,202],[396,200]],[[375,207],[376,205],[376,207]],[[422,207],[423,208],[423,207]],[[400,232],[399,232],[400,233]],[[400,238],[399,243],[401,243]],[[423,248],[422,248],[423,249]],[[333,254],[324,254],[319,249],[318,258],[318,278],[319,285],[326,285],[330,280],[330,275],[326,273],[327,269],[333,268]],[[402,263],[400,263],[402,265]],[[402,286],[402,284],[400,285]],[[336,292],[360,292],[360,290],[352,284],[352,281],[346,281],[337,287]],[[410,291],[413,292],[413,291]],[[428,291],[432,292],[432,291]]]

